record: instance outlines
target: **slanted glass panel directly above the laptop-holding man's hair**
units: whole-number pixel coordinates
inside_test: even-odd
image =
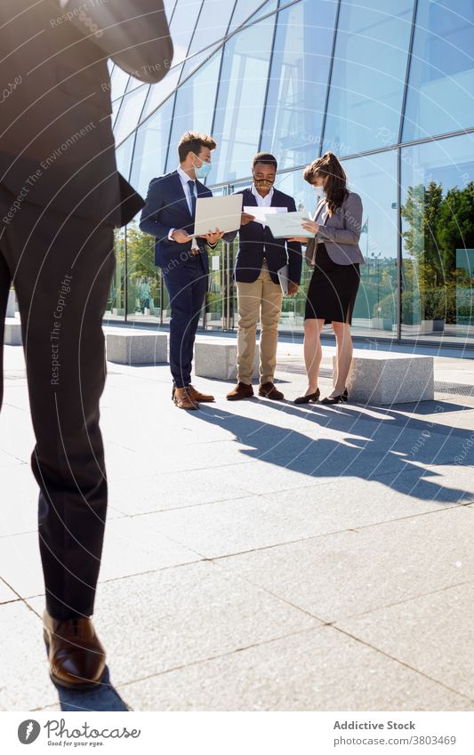
[[[178,142],[183,133],[196,130],[209,133],[213,124],[215,91],[221,65],[221,52],[199,68],[176,93],[173,126],[170,138],[167,171],[173,171],[178,163]]]

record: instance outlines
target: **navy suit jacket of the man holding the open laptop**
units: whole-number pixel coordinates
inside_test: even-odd
[[[196,188],[197,197],[213,196],[211,189],[207,189],[200,181],[196,181]],[[177,244],[168,238],[172,228],[183,229],[191,236],[194,233],[194,218],[189,213],[188,201],[178,171],[166,173],[150,181],[146,204],[141,211],[140,228],[155,237],[155,264],[158,267],[166,268],[171,265],[173,269],[176,262],[183,261],[181,254],[189,252],[191,242]],[[201,250],[207,273],[209,261],[205,238],[197,238],[197,245]]]

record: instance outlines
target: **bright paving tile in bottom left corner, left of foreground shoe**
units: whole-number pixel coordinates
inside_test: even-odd
[[[31,711],[54,704],[58,695],[48,675],[42,622],[21,601],[0,606],[7,652],[2,654],[0,710]]]

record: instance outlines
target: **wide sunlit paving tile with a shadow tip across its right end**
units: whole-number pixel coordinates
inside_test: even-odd
[[[162,511],[155,516],[157,529],[205,558],[227,556],[246,550],[266,548],[283,542],[304,540],[317,535],[341,532],[454,505],[459,492],[439,494],[433,502],[415,497],[418,472],[390,478],[365,480],[347,478],[340,482],[253,495],[233,501],[204,504],[191,509]],[[430,494],[438,490],[433,483]],[[443,498],[447,497],[447,501]],[[152,518],[150,518],[152,521]]]

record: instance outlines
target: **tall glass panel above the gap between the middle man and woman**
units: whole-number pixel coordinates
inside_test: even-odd
[[[317,157],[336,8],[305,0],[278,13],[261,149],[281,168]]]

